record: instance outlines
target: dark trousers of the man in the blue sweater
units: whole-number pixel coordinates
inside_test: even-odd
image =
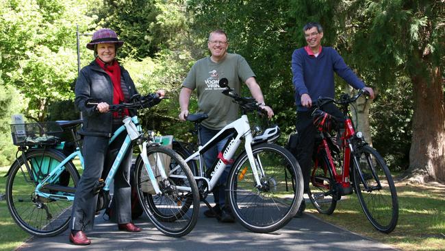
[[[344,118],[343,113],[338,110],[335,104],[327,104],[322,107],[322,110],[334,117]],[[309,177],[312,169],[312,156],[314,154],[315,137],[317,133],[311,113],[312,110],[296,112],[296,132],[298,133],[298,139],[296,143],[296,153],[294,153],[294,155],[301,167],[305,193],[309,190]],[[337,125],[337,129],[343,128],[343,126],[343,123],[340,122]]]

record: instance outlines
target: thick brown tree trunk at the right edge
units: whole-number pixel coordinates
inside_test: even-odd
[[[412,77],[414,88],[413,138],[408,177],[417,182],[445,181],[445,110],[440,67],[430,76]]]

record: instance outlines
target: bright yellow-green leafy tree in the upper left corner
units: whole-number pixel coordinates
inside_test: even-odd
[[[27,117],[42,121],[49,102],[73,98],[75,23],[86,30],[88,1],[0,2],[0,69],[5,84],[29,98]]]

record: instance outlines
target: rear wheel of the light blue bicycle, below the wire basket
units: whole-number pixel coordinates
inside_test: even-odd
[[[41,198],[35,194],[36,184],[49,174],[50,167],[60,164],[66,157],[55,150],[31,150],[26,154],[31,174],[21,157],[12,164],[6,181],[6,203],[12,218],[18,226],[37,237],[59,235],[68,228],[71,221],[73,201]],[[68,181],[58,180],[63,187],[77,187],[79,173],[71,161],[64,165]],[[60,176],[61,177],[61,176]],[[34,181],[33,181],[34,180]],[[55,183],[57,184],[57,183]],[[46,193],[62,193],[47,190]],[[68,195],[67,192],[64,193]],[[74,196],[74,193],[69,193]]]

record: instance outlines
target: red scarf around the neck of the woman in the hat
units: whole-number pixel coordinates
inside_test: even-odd
[[[113,83],[113,104],[120,104],[120,102],[125,101],[125,96],[120,87],[120,67],[117,60],[113,60],[111,64],[106,64],[99,58],[96,58],[97,64],[110,75]],[[123,110],[123,116],[129,115],[128,109]],[[119,112],[113,112],[113,117],[119,117]]]

